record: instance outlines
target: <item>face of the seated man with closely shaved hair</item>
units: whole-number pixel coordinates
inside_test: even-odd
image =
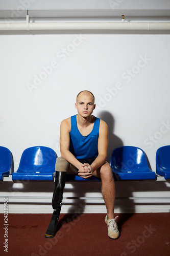
[[[83,117],[88,117],[93,113],[95,109],[94,99],[91,93],[82,92],[75,103],[75,107],[78,113]]]

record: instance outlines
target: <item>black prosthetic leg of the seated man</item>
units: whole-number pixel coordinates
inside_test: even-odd
[[[60,217],[60,211],[62,206],[63,199],[63,190],[65,186],[65,174],[66,172],[56,172],[56,184],[53,193],[52,206],[53,206],[53,215],[50,221],[50,224],[45,233],[45,238],[54,238],[58,220]]]

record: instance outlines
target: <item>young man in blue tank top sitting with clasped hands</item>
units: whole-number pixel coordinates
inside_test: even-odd
[[[94,96],[82,91],[77,96],[75,107],[78,114],[64,119],[60,126],[61,157],[56,161],[56,187],[52,205],[54,213],[46,238],[53,238],[62,205],[65,173],[76,174],[84,179],[91,176],[102,181],[102,195],[106,204],[108,236],[117,239],[119,232],[114,218],[115,185],[111,166],[106,162],[108,148],[108,126],[92,115],[95,109]]]

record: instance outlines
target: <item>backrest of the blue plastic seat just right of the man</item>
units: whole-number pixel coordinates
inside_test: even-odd
[[[142,170],[148,167],[147,158],[139,147],[122,146],[113,150],[111,155],[112,169],[119,169],[121,172]]]

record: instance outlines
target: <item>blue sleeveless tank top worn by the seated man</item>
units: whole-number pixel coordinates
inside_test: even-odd
[[[89,159],[98,156],[98,138],[100,119],[94,117],[94,125],[91,133],[83,136],[77,127],[76,116],[71,116],[70,146],[69,151],[77,159]]]

